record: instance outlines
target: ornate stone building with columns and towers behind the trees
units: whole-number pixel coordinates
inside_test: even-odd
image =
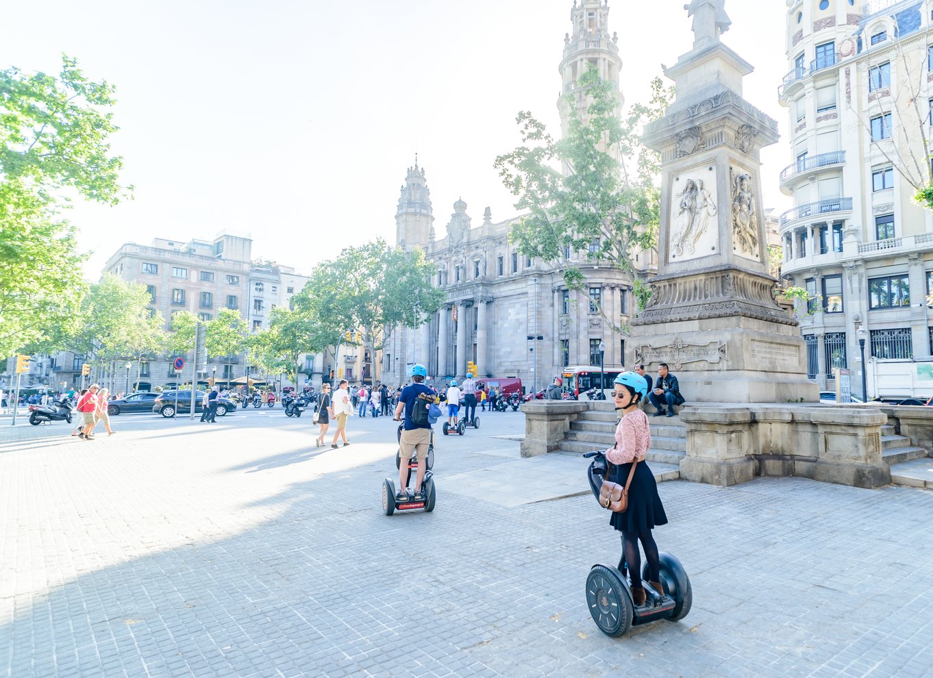
[[[584,104],[577,78],[587,68],[596,66],[619,89],[621,60],[616,36],[608,31],[608,12],[600,0],[575,2],[571,10],[573,33],[564,37],[559,67],[564,131],[570,105],[564,96]],[[383,350],[384,381],[408,381],[414,362],[424,363],[431,376],[462,378],[467,361],[475,361],[480,375],[518,376],[531,390],[535,371],[541,388],[566,365],[599,365],[600,342],[606,368],[623,366],[625,339],[614,327],[628,325],[633,317],[632,280],[585,257],[574,261],[589,297],[599,299],[600,313],[589,297],[566,289],[561,273],[549,263],[513,248],[508,231],[516,218],[494,222],[486,208],[474,227],[466,202],[457,200],[444,232],[437,234],[425,170],[417,160],[409,168],[398,200],[397,243],[406,250],[425,250],[437,266],[436,281],[447,301],[428,324],[398,328],[389,338]],[[570,260],[569,252],[566,256]],[[656,264],[654,251],[635,255],[641,273]]]

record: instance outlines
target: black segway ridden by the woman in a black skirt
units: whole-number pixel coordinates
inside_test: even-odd
[[[606,477],[608,463],[606,455],[600,451],[587,452],[584,457],[594,457],[590,464],[587,478],[596,500],[599,500],[599,488]],[[625,555],[617,567],[611,565],[593,565],[586,578],[586,602],[590,608],[592,620],[599,630],[608,636],[618,638],[633,625],[648,624],[659,619],[677,621],[687,616],[693,603],[693,592],[687,571],[670,553],[661,551],[661,588],[659,594],[648,584],[648,563],[642,568],[641,578],[647,601],[644,605],[635,605],[632,591],[625,576]]]

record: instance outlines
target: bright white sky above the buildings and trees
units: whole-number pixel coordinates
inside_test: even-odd
[[[689,51],[685,0],[609,0],[627,103]],[[62,52],[118,88],[113,138],[135,200],[70,214],[96,280],[123,242],[253,238],[253,256],[308,272],[342,247],[395,240],[418,153],[439,237],[463,198],[474,226],[516,214],[493,169],[531,110],[556,102],[573,0],[46,0],[4,9],[0,67],[57,73]],[[723,42],[756,67],[745,98],[787,131],[784,0],[728,0]],[[786,209],[784,140],[764,150],[766,207]]]

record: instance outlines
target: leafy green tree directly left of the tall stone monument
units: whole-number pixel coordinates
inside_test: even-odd
[[[634,276],[633,250],[655,245],[661,203],[660,156],[644,145],[641,131],[661,118],[673,90],[655,78],[649,104],[634,104],[620,118],[612,84],[595,68],[578,84],[588,104],[584,111],[573,96],[565,97],[564,138],[554,139],[542,122],[522,111],[516,118],[522,145],[495,159],[504,185],[518,197],[515,207],[527,212],[509,240],[522,255],[550,264],[563,273],[564,284],[584,293],[583,274],[565,258],[564,248],[623,270],[633,277],[643,305],[650,293]]]

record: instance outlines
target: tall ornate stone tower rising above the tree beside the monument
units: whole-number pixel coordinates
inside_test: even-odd
[[[619,56],[619,37],[609,34],[608,0],[574,0],[570,10],[573,22],[573,34],[564,35],[564,58],[561,60],[561,95],[557,100],[557,109],[561,114],[561,132],[567,133],[570,105],[583,108],[587,104],[583,90],[577,84],[579,76],[595,66],[599,76],[611,82],[619,99],[621,110],[624,99],[619,86],[622,60]],[[571,96],[573,104],[565,97]]]

